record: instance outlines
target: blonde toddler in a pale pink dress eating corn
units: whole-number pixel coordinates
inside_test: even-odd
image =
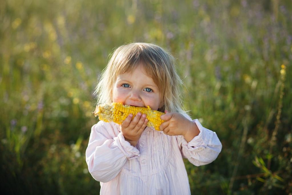
[[[174,58],[161,47],[131,43],[114,51],[95,91],[97,103],[150,106],[166,114],[160,131],[147,127],[141,113],[122,125],[93,125],[86,163],[100,181],[100,194],[190,194],[183,158],[196,166],[217,158],[222,145],[182,110],[180,84]]]

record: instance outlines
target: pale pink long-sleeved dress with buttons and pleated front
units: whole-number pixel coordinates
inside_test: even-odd
[[[146,127],[136,147],[125,141],[116,123],[93,125],[86,163],[92,177],[100,181],[100,194],[190,194],[183,158],[196,166],[206,165],[222,149],[215,132],[197,119],[193,122],[200,133],[190,142]]]

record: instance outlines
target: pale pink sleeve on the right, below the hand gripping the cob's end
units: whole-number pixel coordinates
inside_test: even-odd
[[[222,149],[222,144],[215,132],[204,128],[197,119],[193,122],[200,130],[199,135],[190,142],[187,142],[183,136],[178,136],[178,145],[182,156],[192,164],[196,166],[206,165],[217,158]]]

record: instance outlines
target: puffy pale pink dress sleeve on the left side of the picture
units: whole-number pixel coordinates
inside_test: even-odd
[[[92,177],[100,182],[114,179],[127,159],[140,156],[138,149],[131,146],[115,128],[115,125],[102,121],[91,128],[86,163]]]

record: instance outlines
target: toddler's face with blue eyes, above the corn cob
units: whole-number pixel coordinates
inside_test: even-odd
[[[142,65],[133,73],[124,73],[117,77],[113,86],[113,102],[124,105],[147,107],[157,110],[160,104],[160,91]]]

